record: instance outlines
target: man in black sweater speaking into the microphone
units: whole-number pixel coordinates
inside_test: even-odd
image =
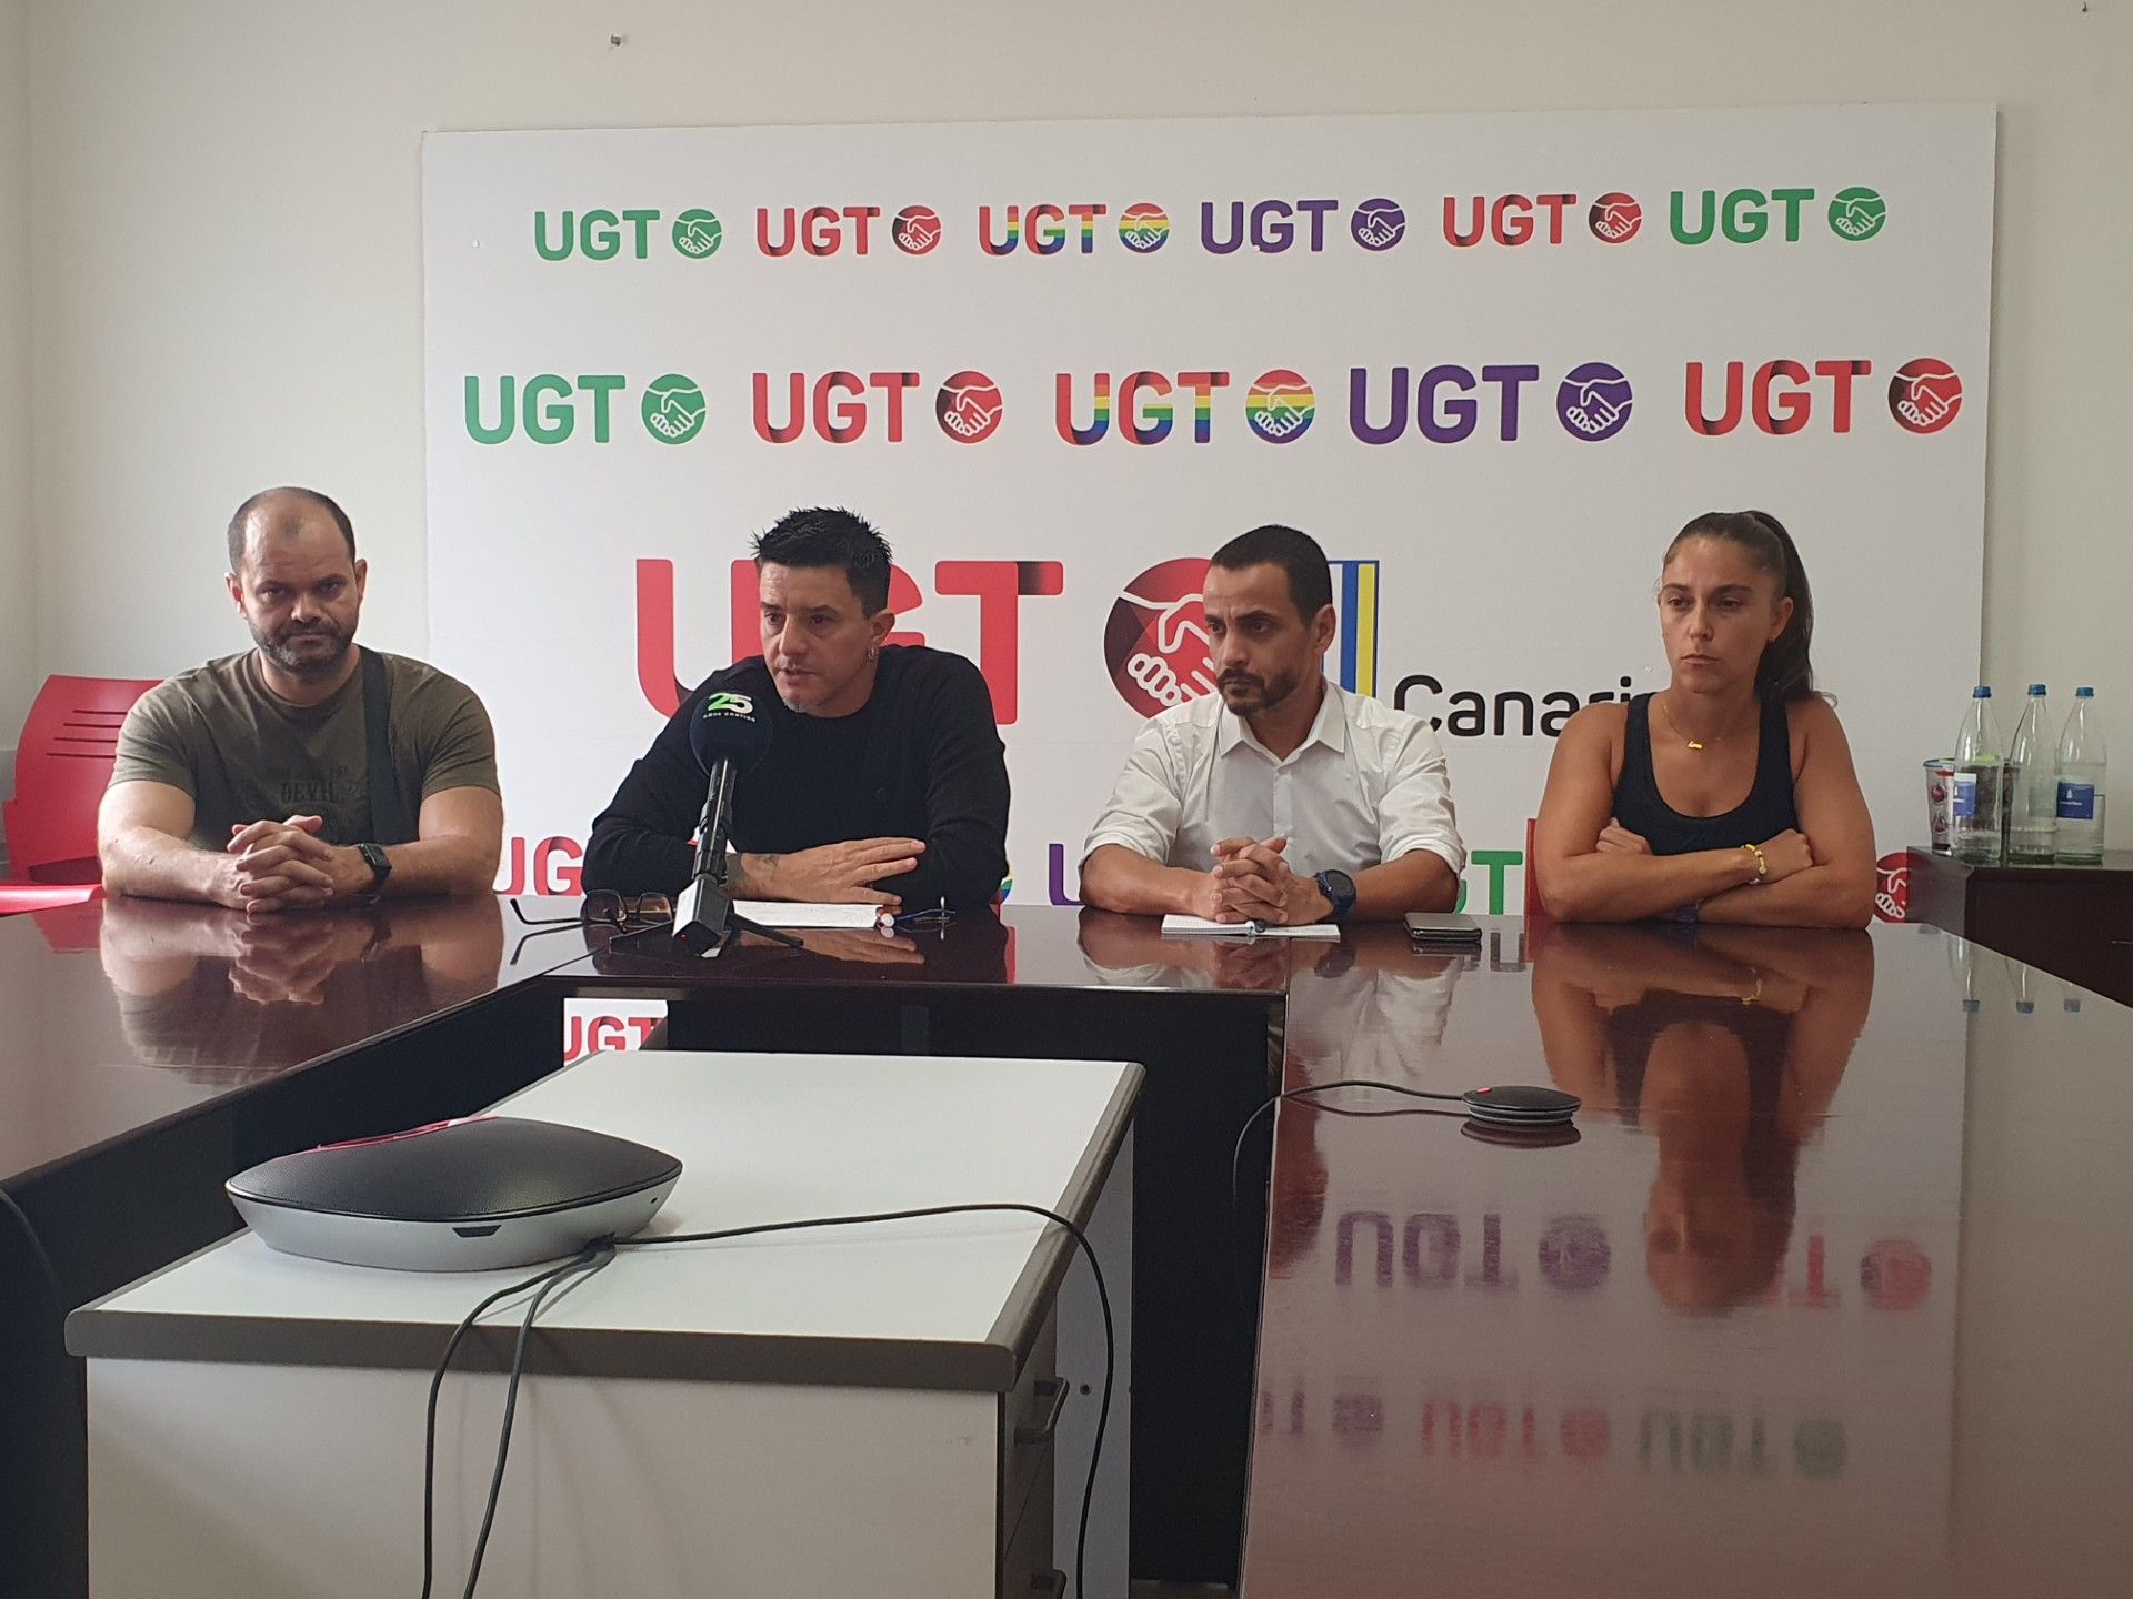
[[[689,881],[704,768],[689,725],[719,691],[755,699],[770,753],[734,787],[740,900],[979,910],[1007,874],[1007,750],[960,655],[883,644],[889,546],[843,510],[789,512],[755,539],[764,652],[712,672],[593,821],[584,887]]]

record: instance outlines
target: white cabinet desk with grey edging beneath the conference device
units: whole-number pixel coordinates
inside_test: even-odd
[[[1088,1593],[1122,1599],[1139,1087],[1116,1062],[653,1051],[506,1104],[678,1156],[653,1234],[985,1200],[1084,1226],[1120,1339]],[[535,1324],[480,1593],[1071,1593],[1103,1384],[1075,1254],[1013,1213],[623,1251]],[[531,1271],[339,1266],[241,1232],[75,1311],[92,1597],[412,1599],[431,1371]],[[520,1311],[446,1377],[439,1595],[465,1582]]]

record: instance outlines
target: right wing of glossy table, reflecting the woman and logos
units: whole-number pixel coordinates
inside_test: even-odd
[[[1280,1111],[1244,1593],[2133,1590],[2133,1011],[1932,927],[1365,934]],[[1416,1107],[1421,1109],[1421,1107]]]

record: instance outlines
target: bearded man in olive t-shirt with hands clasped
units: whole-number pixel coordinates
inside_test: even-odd
[[[237,507],[226,584],[256,648],[126,716],[96,819],[109,893],[267,915],[491,889],[488,712],[435,667],[354,644],[367,576],[324,495],[269,488]]]

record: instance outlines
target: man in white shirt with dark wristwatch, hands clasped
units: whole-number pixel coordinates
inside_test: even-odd
[[[1333,574],[1290,527],[1214,554],[1216,693],[1152,716],[1081,849],[1081,898],[1207,921],[1450,910],[1465,844],[1436,733],[1327,682]]]

